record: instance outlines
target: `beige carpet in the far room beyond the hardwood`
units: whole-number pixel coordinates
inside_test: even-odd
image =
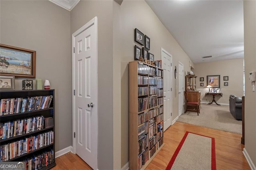
[[[207,104],[201,104],[201,106],[199,116],[196,112],[186,112],[177,121],[242,134],[242,121],[237,121],[231,115],[229,106]]]

